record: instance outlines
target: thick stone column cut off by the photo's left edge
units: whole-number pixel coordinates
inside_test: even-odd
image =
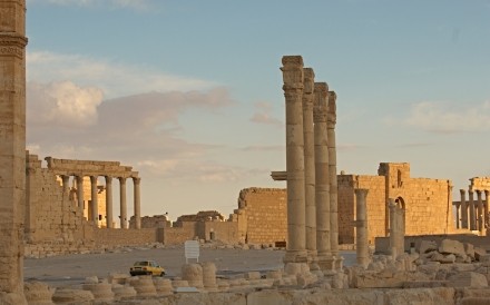
[[[23,296],[26,0],[0,1],[0,303]],[[8,302],[11,303],[8,303]]]

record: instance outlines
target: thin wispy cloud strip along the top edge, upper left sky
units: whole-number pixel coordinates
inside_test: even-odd
[[[109,7],[148,10],[151,0],[28,0],[28,3],[49,3],[55,6]]]

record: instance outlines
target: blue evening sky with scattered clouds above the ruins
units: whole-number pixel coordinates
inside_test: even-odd
[[[339,173],[490,176],[490,0],[27,0],[27,36],[28,149],[133,166],[143,216],[285,187],[290,55],[337,95]]]

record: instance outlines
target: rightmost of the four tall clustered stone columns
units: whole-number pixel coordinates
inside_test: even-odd
[[[336,94],[329,91],[329,112],[326,131],[329,138],[329,173],[330,173],[330,242],[332,255],[339,256],[339,204],[337,204],[337,178],[336,178]]]

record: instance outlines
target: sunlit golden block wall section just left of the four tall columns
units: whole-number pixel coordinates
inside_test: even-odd
[[[286,239],[287,210],[284,188],[242,189],[236,214],[246,218],[246,243],[272,244]]]

